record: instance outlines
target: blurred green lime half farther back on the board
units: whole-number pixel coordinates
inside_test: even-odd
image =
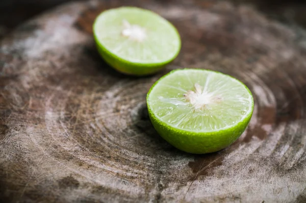
[[[94,22],[93,33],[104,60],[126,74],[157,72],[181,49],[180,35],[169,21],[136,7],[102,12]]]

